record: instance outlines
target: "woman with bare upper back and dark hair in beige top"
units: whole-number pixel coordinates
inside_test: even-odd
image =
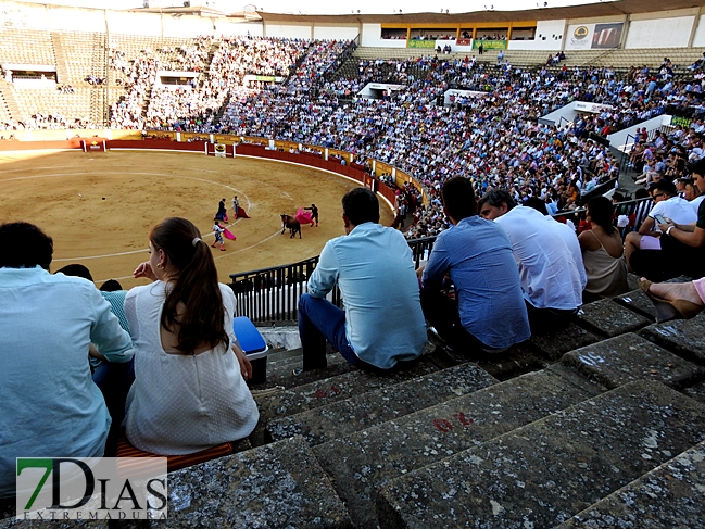
[[[627,264],[621,236],[613,224],[612,202],[605,197],[590,199],[586,216],[590,229],[578,237],[588,275],[584,291],[592,297],[621,294],[628,289]]]

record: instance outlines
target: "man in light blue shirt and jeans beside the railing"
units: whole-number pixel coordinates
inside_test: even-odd
[[[326,339],[351,364],[390,369],[426,343],[418,281],[406,240],[379,225],[367,188],[342,199],[345,236],[329,240],[299,302],[303,370],[326,367]],[[344,312],[327,301],[338,284]]]

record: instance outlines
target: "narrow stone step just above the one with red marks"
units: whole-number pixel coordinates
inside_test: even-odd
[[[473,365],[431,373],[413,380],[358,394],[333,404],[268,421],[267,440],[303,436],[310,445],[333,439],[473,393],[496,380]]]

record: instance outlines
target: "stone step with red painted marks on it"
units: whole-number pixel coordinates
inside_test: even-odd
[[[314,446],[313,452],[354,524],[374,527],[377,487],[594,394],[554,373],[531,373]]]

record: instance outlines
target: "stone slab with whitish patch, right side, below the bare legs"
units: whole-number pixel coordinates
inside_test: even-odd
[[[640,379],[680,389],[705,377],[703,367],[631,332],[566,353],[562,362],[609,389]]]

